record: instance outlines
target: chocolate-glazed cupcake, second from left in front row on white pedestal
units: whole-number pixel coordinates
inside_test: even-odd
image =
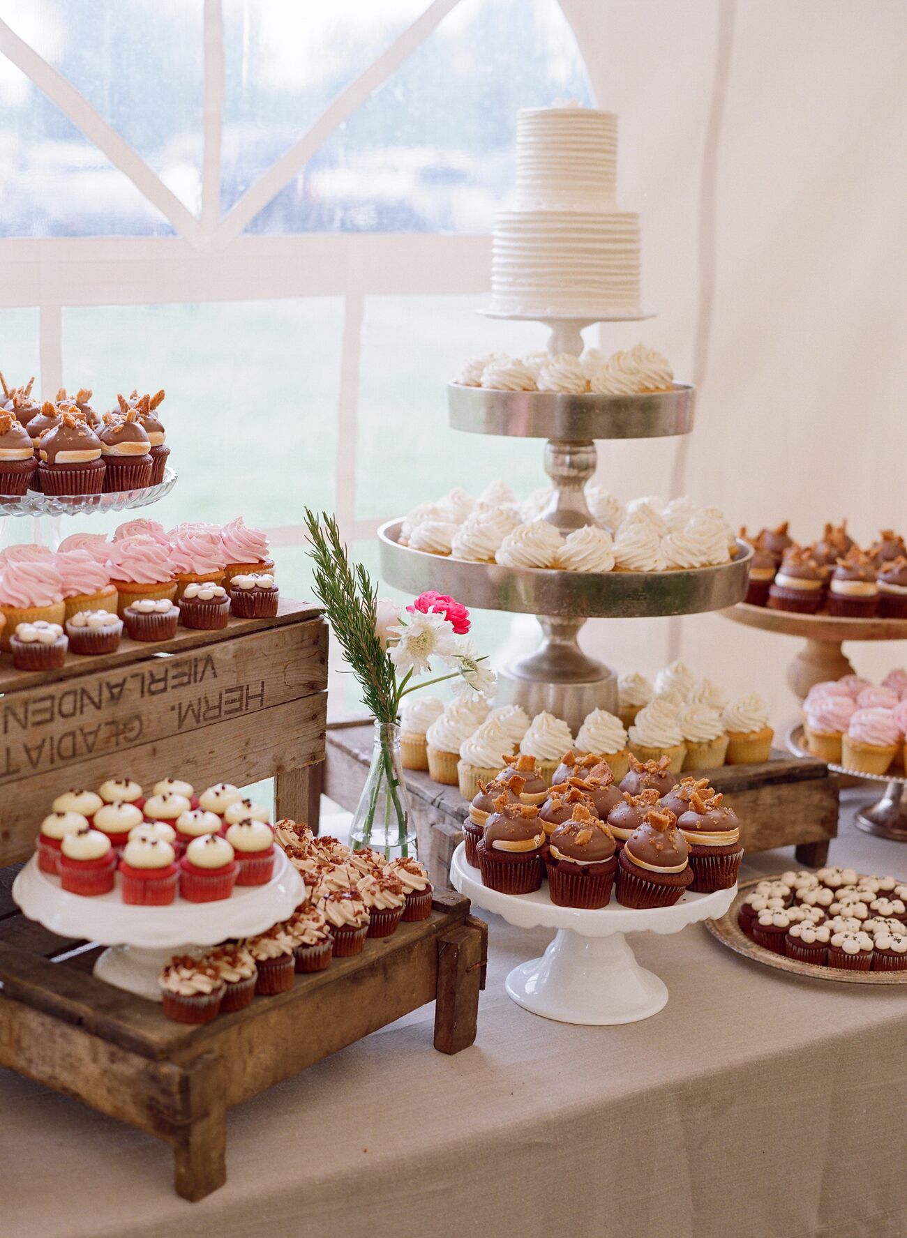
[[[549,839],[548,884],[559,907],[606,907],[615,884],[615,839],[589,808],[577,803]]]

